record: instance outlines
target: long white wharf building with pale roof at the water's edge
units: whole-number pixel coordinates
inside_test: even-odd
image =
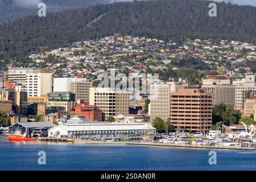
[[[73,117],[64,125],[48,130],[48,137],[67,137],[81,139],[100,139],[109,137],[144,136],[155,134],[156,129],[148,122],[118,123],[92,122],[88,119]]]

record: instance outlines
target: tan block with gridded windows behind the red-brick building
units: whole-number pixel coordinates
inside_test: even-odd
[[[70,92],[76,94],[77,100],[83,100],[89,102],[90,88],[93,87],[93,82],[87,81],[72,81],[69,85]]]

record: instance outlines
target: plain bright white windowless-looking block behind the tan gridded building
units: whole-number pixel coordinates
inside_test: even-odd
[[[86,82],[86,78],[54,78],[53,92],[71,92],[71,82]]]

